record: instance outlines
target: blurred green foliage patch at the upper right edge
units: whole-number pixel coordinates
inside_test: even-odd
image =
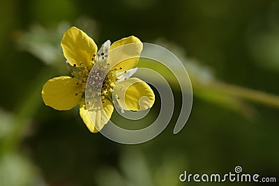
[[[271,71],[279,70],[279,21],[278,1],[273,1],[267,9],[269,12],[255,20],[248,29],[247,38],[250,53],[260,68],[267,68]],[[266,24],[266,26],[262,26]]]

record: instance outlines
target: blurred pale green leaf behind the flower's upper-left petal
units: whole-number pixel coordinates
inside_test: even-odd
[[[98,36],[98,28],[96,22],[88,17],[80,17],[76,24],[80,29],[87,31],[89,36],[94,33],[93,38]],[[19,49],[29,52],[36,56],[45,65],[54,65],[57,72],[65,74],[68,72],[66,68],[66,59],[61,49],[61,38],[63,33],[70,28],[68,22],[60,22],[56,28],[47,29],[39,24],[31,26],[29,31],[15,32],[15,39]]]

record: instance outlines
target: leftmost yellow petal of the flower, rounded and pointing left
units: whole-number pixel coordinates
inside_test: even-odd
[[[43,86],[42,98],[47,106],[56,110],[69,110],[82,98],[82,86],[77,86],[77,79],[68,76],[54,77]],[[75,95],[78,93],[77,95]]]

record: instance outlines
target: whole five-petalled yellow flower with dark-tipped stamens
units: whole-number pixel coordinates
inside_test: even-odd
[[[137,45],[126,47],[129,44]],[[155,101],[152,89],[140,79],[128,78],[135,72],[134,67],[139,60],[137,56],[140,56],[142,46],[142,42],[138,38],[130,36],[118,40],[112,45],[110,45],[110,40],[107,40],[97,52],[96,43],[86,33],[75,26],[71,27],[64,33],[61,40],[61,47],[67,59],[66,63],[71,77],[61,76],[48,80],[43,86],[43,102],[60,111],[72,109],[80,104],[80,116],[91,132],[100,131],[110,120],[114,110],[113,96],[116,96],[118,104],[125,110],[149,109]],[[117,47],[123,48],[117,50]],[[119,61],[121,62],[119,63]],[[112,68],[105,73],[104,81],[98,82],[102,87],[101,105],[91,103],[91,108],[87,108],[85,103],[86,83],[89,86],[87,88],[90,93],[88,96],[93,97],[92,88],[96,82],[89,81],[89,73],[97,62],[101,64],[100,68],[98,72],[92,72],[91,79],[100,79],[100,74],[105,73],[105,68]]]

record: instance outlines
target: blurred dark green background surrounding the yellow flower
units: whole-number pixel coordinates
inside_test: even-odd
[[[237,165],[278,180],[279,1],[11,0],[0,17],[0,185],[186,185],[184,170]],[[68,74],[60,40],[73,25],[99,47],[135,35],[179,56],[194,91],[186,127],[172,134],[175,83],[172,123],[139,145],[91,134],[77,108],[45,106],[43,84]]]

